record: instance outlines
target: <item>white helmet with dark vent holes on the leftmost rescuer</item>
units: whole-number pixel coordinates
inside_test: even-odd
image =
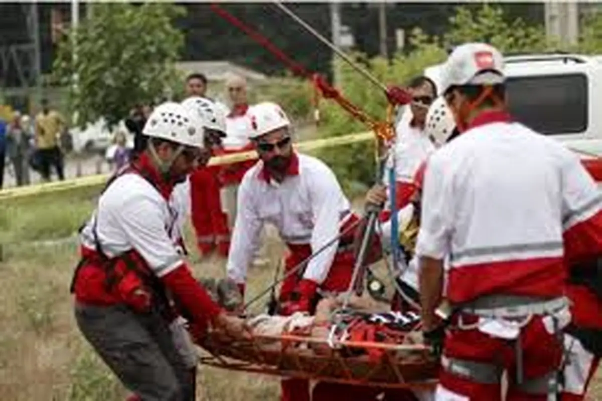
[[[158,105],[149,116],[142,133],[153,138],[167,139],[178,144],[203,148],[200,118],[175,102]]]

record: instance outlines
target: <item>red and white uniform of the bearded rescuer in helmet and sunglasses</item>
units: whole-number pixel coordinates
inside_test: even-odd
[[[277,183],[259,161],[245,174],[238,193],[238,214],[229,254],[228,277],[244,284],[247,268],[259,248],[259,233],[267,222],[275,225],[287,243],[290,269],[317,251],[354,221],[350,204],[334,173],[311,156],[294,154],[282,183]],[[350,233],[350,238],[353,233]],[[346,290],[353,269],[353,251],[341,252],[341,241],[315,256],[303,272],[303,279],[325,290]],[[351,245],[349,243],[349,245]],[[281,298],[299,280],[285,281]]]

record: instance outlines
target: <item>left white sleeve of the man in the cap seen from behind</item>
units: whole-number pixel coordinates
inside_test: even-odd
[[[445,174],[444,159],[433,156],[424,172],[420,230],[415,253],[444,259],[451,252],[453,194],[451,174]]]

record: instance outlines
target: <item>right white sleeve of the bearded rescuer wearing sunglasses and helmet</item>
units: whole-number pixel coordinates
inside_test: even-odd
[[[324,168],[321,174],[316,174],[311,183],[311,209],[314,215],[314,230],[311,233],[311,251],[315,254],[326,243],[338,237],[341,223],[341,198],[343,190],[334,173]],[[303,278],[321,284],[330,271],[335,256],[337,256],[338,240],[313,257]]]

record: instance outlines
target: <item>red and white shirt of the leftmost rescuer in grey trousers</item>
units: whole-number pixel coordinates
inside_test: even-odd
[[[178,243],[178,210],[169,202],[172,187],[161,183],[146,155],[141,155],[138,162],[150,178],[142,177],[138,170],[117,177],[101,195],[95,215],[81,231],[84,259],[73,281],[75,299],[85,305],[127,303],[124,296],[128,294],[123,288],[107,287],[107,272],[96,248],[98,240],[102,253],[116,258],[116,263],[131,260],[136,271],[157,277],[188,314],[203,317],[195,323],[204,325],[204,320],[216,316],[219,308],[198,286],[183,259]],[[127,286],[129,281],[122,283]]]

